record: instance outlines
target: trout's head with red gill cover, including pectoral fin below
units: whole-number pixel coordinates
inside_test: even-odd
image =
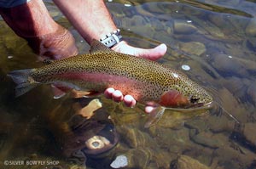
[[[150,127],[159,121],[166,108],[171,108],[170,110],[182,110],[183,112],[212,109],[212,96],[204,88],[190,80],[185,83],[189,86],[185,86],[183,83],[183,86],[176,85],[172,89],[162,93],[160,101],[157,104],[158,106],[155,106],[154,110],[150,112],[145,127]],[[150,104],[154,105],[154,103]]]

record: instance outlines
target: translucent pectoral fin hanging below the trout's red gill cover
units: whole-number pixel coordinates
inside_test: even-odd
[[[162,115],[164,115],[165,110],[166,108],[162,106],[155,107],[154,110],[148,115],[148,121],[146,122],[144,127],[148,128],[160,121],[160,118],[162,117]]]

